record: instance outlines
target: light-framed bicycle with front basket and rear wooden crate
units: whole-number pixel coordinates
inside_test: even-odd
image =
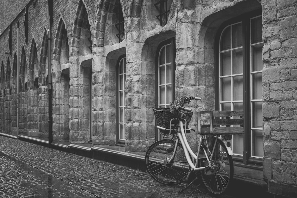
[[[184,103],[192,102],[194,99],[201,100],[199,97],[192,96],[183,98]],[[188,129],[188,122],[192,116],[190,115],[191,109],[177,105],[176,110],[174,110],[175,114],[170,112],[168,108],[167,110],[153,110],[157,128],[164,136],[163,140],[154,142],[146,152],[146,167],[151,177],[165,185],[176,185],[184,181],[191,181],[180,191],[181,193],[198,179],[199,172],[208,191],[212,194],[224,193],[233,180],[234,172],[231,157],[233,152],[230,148],[230,142],[227,143],[225,139],[230,139],[230,134],[244,132],[243,112],[198,112],[198,132],[201,136],[198,144],[199,149],[195,154],[186,138],[186,133],[195,131]],[[159,114],[162,113],[164,115],[160,116]],[[209,113],[208,118],[211,119],[203,118],[206,113]],[[226,119],[212,119],[213,116],[224,116]],[[233,116],[239,116],[240,119],[229,119]],[[170,120],[169,124],[168,120]],[[220,126],[225,124],[225,126],[215,127],[218,124]],[[234,124],[240,125],[240,127],[230,127]]]

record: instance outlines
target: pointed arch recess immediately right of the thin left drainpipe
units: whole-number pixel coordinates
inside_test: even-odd
[[[24,46],[22,47],[19,69],[19,134],[27,135],[28,131],[28,88],[27,88],[27,58]]]

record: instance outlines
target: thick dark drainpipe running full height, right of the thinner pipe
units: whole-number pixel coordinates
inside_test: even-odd
[[[48,144],[51,145],[52,137],[52,53],[51,44],[52,38],[50,34],[50,14],[51,14],[52,0],[48,0]]]

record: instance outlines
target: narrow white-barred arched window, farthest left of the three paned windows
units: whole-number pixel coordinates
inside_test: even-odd
[[[121,56],[117,63],[117,142],[125,143],[125,81],[126,57]]]

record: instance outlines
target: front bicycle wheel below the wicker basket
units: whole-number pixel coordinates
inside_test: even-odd
[[[146,152],[147,170],[152,178],[162,184],[179,184],[189,171],[189,164],[181,144],[178,143],[176,153],[170,161],[174,153],[174,145],[175,141],[173,140],[159,140],[152,144]]]

